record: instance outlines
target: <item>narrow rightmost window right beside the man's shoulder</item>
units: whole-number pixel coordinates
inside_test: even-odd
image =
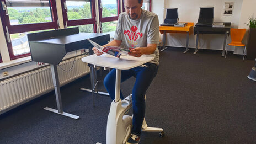
[[[102,33],[115,31],[118,15],[120,14],[119,0],[98,0],[100,31]]]

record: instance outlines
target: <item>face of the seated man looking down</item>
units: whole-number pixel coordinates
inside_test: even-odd
[[[125,0],[125,11],[130,19],[136,20],[141,14],[142,2],[138,0]]]

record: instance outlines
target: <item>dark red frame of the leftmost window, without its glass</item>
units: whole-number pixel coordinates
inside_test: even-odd
[[[4,30],[4,37],[6,38],[6,43],[8,47],[8,52],[10,56],[10,60],[15,60],[18,58],[30,56],[30,52],[26,54],[21,54],[15,56],[13,54],[13,47],[12,47],[12,42],[8,42],[7,34],[10,39],[10,34],[15,34],[15,33],[24,33],[24,32],[29,32],[29,31],[37,31],[37,30],[46,30],[46,29],[58,29],[58,19],[57,19],[57,7],[56,7],[56,2],[55,0],[49,0],[50,2],[50,10],[52,13],[52,20],[53,22],[44,22],[44,23],[33,23],[33,24],[20,24],[20,25],[10,25],[10,19],[9,15],[6,15],[6,11],[2,9],[2,2],[4,4],[6,3],[6,0],[0,0],[1,2],[1,8],[0,8],[0,17],[2,20],[2,25],[3,25],[3,30]],[[7,31],[8,29],[8,31]]]

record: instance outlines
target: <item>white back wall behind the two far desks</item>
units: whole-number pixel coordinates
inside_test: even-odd
[[[152,0],[153,1],[153,0]],[[231,22],[232,28],[238,28],[239,19],[241,16],[242,0],[232,0],[234,2],[233,15],[223,16],[223,8],[225,5],[224,0],[165,0],[164,7],[155,8],[154,3],[161,3],[156,1],[153,3],[153,12],[158,10],[158,13],[163,12],[164,8],[177,7],[179,12],[179,22],[194,22],[194,25],[198,21],[199,9],[205,6],[214,6],[214,16],[215,22]],[[249,1],[249,0],[247,0]],[[161,4],[158,4],[161,6]],[[163,22],[165,13],[159,15],[159,23]],[[190,35],[189,47],[195,47],[196,36]],[[199,35],[199,48],[201,49],[215,49],[222,50],[224,35],[210,35],[210,34],[200,34]],[[227,42],[230,42],[230,38],[227,38]],[[186,35],[184,34],[168,34],[166,45],[168,46],[182,46],[186,45]],[[232,47],[231,47],[232,48]]]

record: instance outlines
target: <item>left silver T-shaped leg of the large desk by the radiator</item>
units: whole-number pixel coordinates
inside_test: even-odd
[[[45,107],[44,109],[49,110],[49,111],[54,112],[54,113],[57,113],[57,114],[60,114],[60,115],[68,116],[68,117],[73,118],[73,119],[78,119],[79,116],[77,116],[77,115],[72,115],[72,114],[68,114],[68,113],[63,112],[62,102],[61,102],[61,93],[60,93],[60,81],[58,80],[57,65],[52,65],[51,64],[51,74],[52,74],[52,82],[54,83],[55,97],[56,97],[58,110],[52,109],[52,108],[49,108],[49,107]]]

